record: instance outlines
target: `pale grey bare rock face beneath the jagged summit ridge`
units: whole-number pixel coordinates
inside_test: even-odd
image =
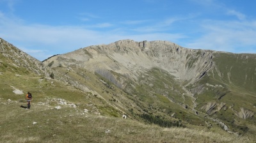
[[[109,45],[90,46],[44,61],[45,65],[76,66],[99,72],[111,70],[137,80],[138,73],[161,68],[176,79],[194,82],[213,66],[210,50],[192,50],[169,41],[116,41]]]

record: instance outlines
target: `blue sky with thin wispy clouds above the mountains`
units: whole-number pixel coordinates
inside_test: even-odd
[[[118,40],[256,53],[253,0],[0,0],[0,37],[40,61]]]

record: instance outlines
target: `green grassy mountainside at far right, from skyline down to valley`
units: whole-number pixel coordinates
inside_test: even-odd
[[[225,108],[211,116],[221,119],[233,132],[255,134],[256,117],[241,119],[234,112],[239,112],[241,107],[256,112],[256,87],[253,84],[253,79],[256,79],[255,57],[251,54],[219,53],[215,55],[214,62],[216,68],[197,83],[197,86],[205,87],[204,92],[196,94],[196,102],[199,103],[197,109],[200,110],[208,102],[226,103]],[[206,84],[221,87],[205,86]]]

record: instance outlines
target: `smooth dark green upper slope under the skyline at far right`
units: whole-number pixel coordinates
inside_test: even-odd
[[[226,84],[243,87],[247,91],[255,92],[255,57],[252,54],[227,54],[215,55],[214,62],[218,70],[223,73],[221,80]],[[246,59],[247,56],[247,59]],[[228,73],[230,77],[228,78]],[[215,77],[218,78],[218,74]]]

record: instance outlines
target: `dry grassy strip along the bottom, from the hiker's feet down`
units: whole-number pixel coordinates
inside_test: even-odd
[[[81,114],[72,107],[56,110],[33,103],[26,110],[19,105],[0,105],[2,142],[253,142],[251,137],[221,130],[161,128],[121,117]]]

